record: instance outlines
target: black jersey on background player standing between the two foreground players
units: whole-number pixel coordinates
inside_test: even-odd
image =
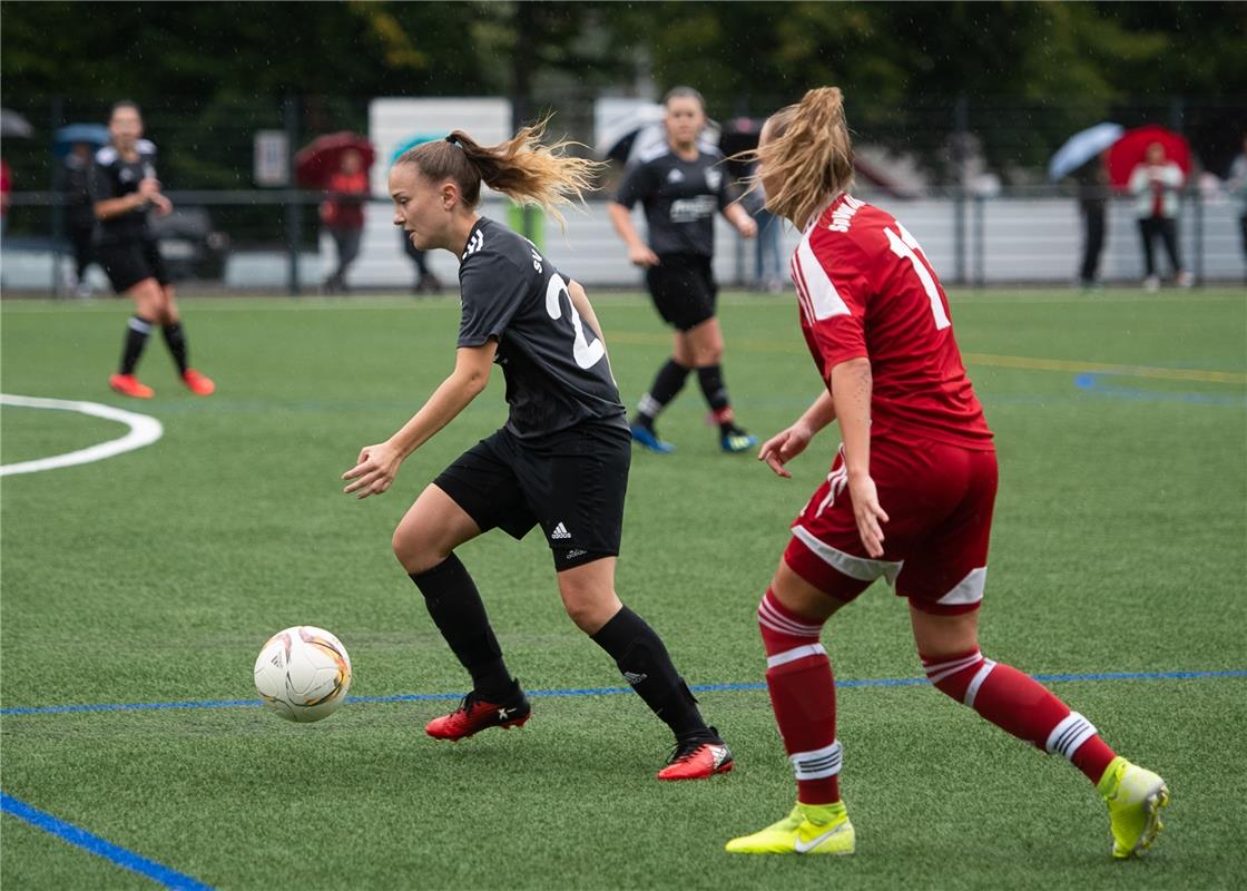
[[[685,161],[663,145],[628,171],[615,198],[628,210],[640,201],[650,227],[650,250],[663,253],[715,253],[715,212],[731,203],[727,171],[717,148],[698,145]]]

